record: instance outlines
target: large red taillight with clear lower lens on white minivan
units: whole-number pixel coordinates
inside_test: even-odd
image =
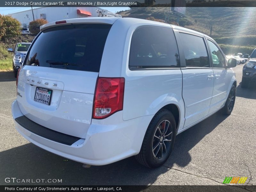
[[[98,77],[93,101],[93,118],[103,119],[123,110],[123,101],[123,77]]]

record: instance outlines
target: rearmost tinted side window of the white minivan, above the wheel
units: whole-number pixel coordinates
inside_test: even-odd
[[[176,39],[171,28],[140,27],[132,35],[130,68],[180,66]]]

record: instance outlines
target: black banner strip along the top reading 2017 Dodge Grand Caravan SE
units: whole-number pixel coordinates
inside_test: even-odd
[[[256,7],[255,0],[4,0],[0,7]]]

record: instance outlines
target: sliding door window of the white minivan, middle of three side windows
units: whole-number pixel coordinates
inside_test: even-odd
[[[210,67],[202,37],[180,33],[187,67]]]

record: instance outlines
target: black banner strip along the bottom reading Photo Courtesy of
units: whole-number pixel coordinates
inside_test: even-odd
[[[243,184],[237,184],[237,185],[216,185],[216,186],[209,186],[209,185],[192,185],[192,186],[184,186],[184,185],[114,185],[114,186],[81,186],[81,185],[74,185],[74,186],[68,186],[68,185],[56,185],[56,186],[49,186],[49,185],[16,185],[16,186],[6,186],[3,185],[0,187],[1,191],[13,191],[13,192],[20,192],[20,191],[74,191],[74,192],[240,192],[240,191],[256,191],[256,186],[252,185],[243,185]]]

